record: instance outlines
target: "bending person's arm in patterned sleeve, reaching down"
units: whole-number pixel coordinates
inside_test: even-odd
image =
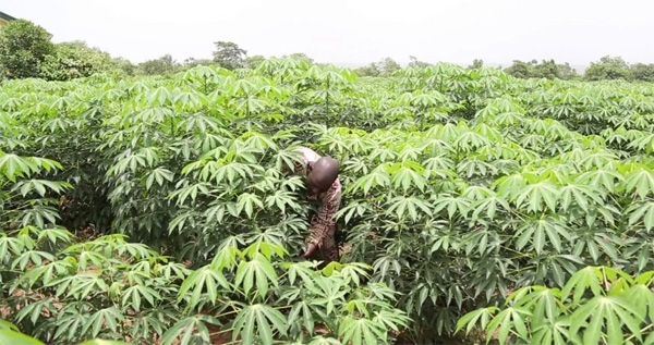
[[[320,198],[318,212],[311,220],[310,235],[306,238],[306,252],[304,258],[311,257],[318,248],[323,246],[323,241],[329,234],[332,226],[336,226],[334,215],[340,208],[341,186],[337,180],[335,185]]]

